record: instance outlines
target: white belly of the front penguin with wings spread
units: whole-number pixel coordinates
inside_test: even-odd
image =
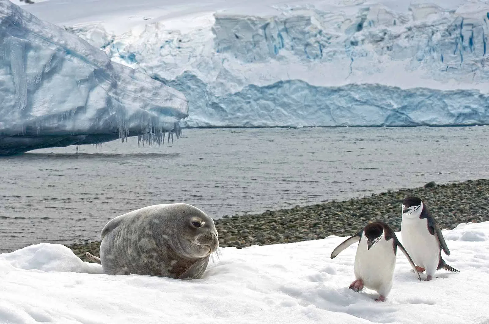
[[[392,287],[392,275],[396,266],[393,241],[381,238],[367,250],[365,237],[360,239],[355,255],[354,273],[363,285],[386,296]]]

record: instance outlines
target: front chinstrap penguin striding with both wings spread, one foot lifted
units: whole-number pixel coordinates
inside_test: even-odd
[[[386,223],[376,221],[367,224],[362,231],[338,245],[333,250],[331,258],[333,259],[341,251],[356,242],[359,242],[353,268],[356,280],[352,282],[350,289],[358,292],[365,286],[378,292],[380,296],[376,301],[385,301],[392,288],[398,247],[406,255],[421,281],[413,260],[400,244],[396,233]]]

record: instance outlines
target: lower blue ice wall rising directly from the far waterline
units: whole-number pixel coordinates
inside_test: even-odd
[[[186,127],[489,124],[489,94],[477,90],[403,90],[379,84],[316,87],[286,80],[216,96],[190,73],[161,81],[187,93],[194,110],[184,121]]]

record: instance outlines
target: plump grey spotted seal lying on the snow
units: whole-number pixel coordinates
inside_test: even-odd
[[[214,220],[188,204],[162,204],[113,218],[102,230],[100,258],[108,275],[201,278],[218,246]]]

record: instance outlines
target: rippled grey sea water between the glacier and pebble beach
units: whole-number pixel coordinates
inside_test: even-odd
[[[154,204],[219,218],[489,177],[489,126],[182,133],[0,157],[0,253],[98,239],[109,219]]]

